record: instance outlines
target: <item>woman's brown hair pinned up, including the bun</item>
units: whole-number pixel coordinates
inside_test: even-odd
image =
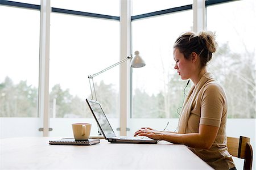
[[[207,65],[212,59],[212,53],[216,52],[217,42],[215,34],[210,31],[185,32],[175,41],[174,48],[178,48],[186,59],[191,58],[191,53],[195,52],[200,57],[201,66]]]

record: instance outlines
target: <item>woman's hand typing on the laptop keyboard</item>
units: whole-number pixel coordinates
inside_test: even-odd
[[[151,128],[141,128],[134,133],[134,136],[144,136],[155,140],[162,140],[162,132]]]

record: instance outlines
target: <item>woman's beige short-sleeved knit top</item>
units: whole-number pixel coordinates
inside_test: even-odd
[[[219,128],[217,137],[209,150],[189,147],[214,169],[235,167],[226,145],[227,105],[224,89],[210,73],[206,73],[197,86],[193,86],[189,91],[179,120],[178,133],[198,133],[199,125]]]

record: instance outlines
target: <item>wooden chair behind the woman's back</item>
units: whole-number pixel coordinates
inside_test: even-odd
[[[251,169],[253,165],[253,148],[250,145],[250,138],[242,136],[240,138],[228,137],[227,143],[229,154],[245,159],[243,169]]]

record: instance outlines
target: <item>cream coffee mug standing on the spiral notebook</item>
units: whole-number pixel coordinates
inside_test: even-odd
[[[73,135],[76,141],[86,141],[90,137],[90,123],[76,123],[72,124]]]

